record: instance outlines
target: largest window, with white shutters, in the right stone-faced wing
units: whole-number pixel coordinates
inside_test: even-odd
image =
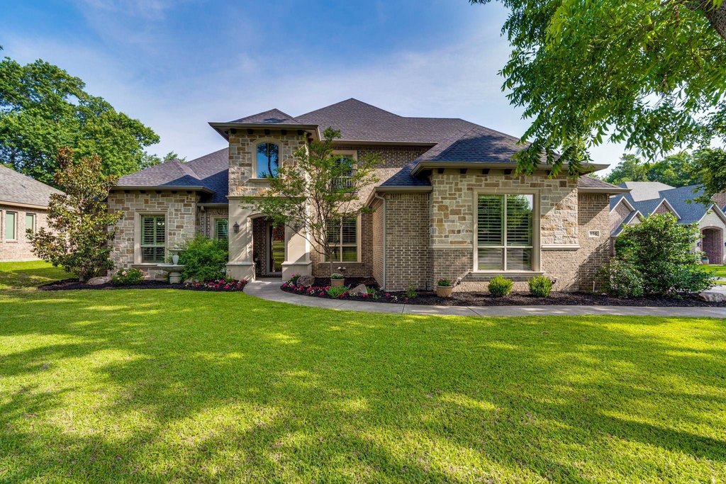
[[[534,195],[477,197],[478,271],[531,271]]]

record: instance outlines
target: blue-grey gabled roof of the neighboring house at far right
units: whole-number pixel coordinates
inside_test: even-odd
[[[703,194],[703,189],[697,185],[674,188],[657,181],[626,181],[620,186],[629,188],[630,192],[611,197],[611,210],[624,200],[629,203],[632,211],[620,226],[613,229],[612,235],[619,234],[622,226],[632,220],[632,216],[636,212],[648,216],[653,214],[661,205],[665,205],[669,212],[678,218],[679,223],[696,223],[709,210],[717,211],[717,215],[725,218],[723,210],[717,205],[712,203],[703,205],[703,203],[694,201]]]

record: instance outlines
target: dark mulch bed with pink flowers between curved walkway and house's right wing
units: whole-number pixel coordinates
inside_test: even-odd
[[[366,284],[378,288],[373,279],[346,277],[346,286],[356,287],[357,284]],[[318,287],[314,294],[297,292],[290,287],[282,287],[285,292],[307,295],[311,298],[332,299],[328,295],[320,295],[322,287],[330,285],[330,279],[317,278]],[[388,296],[386,296],[388,295]],[[516,305],[608,305],[608,306],[662,306],[662,307],[726,307],[726,303],[709,303],[695,297],[687,298],[637,298],[618,299],[608,295],[590,294],[587,292],[552,292],[549,298],[535,298],[528,292],[512,292],[505,298],[494,298],[486,292],[454,292],[451,298],[439,298],[436,292],[421,291],[416,298],[406,298],[404,292],[380,292],[378,299],[367,297],[338,298],[343,300],[370,301],[372,303],[404,303],[417,305],[446,305],[446,306],[516,306]]]

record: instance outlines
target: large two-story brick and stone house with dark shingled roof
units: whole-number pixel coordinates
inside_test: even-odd
[[[521,282],[549,274],[559,290],[592,289],[609,257],[608,198],[627,191],[589,176],[550,178],[546,165],[515,176],[512,156],[522,146],[513,136],[461,119],[407,118],[356,99],[294,118],[270,110],[210,126],[227,148],[118,181],[108,203],[125,213],[113,247],[119,266],[158,274],[155,264],[169,249],[205,234],[229,239],[235,278],[329,276],[301,235],[241,203],[328,126],[341,131],[341,157],[383,158],[380,181],[359,193],[374,211],[331,234],[334,268],[375,277],[388,290],[431,288],[444,277],[462,278],[459,289],[482,289],[495,274]]]

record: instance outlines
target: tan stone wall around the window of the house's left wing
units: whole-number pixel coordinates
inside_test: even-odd
[[[139,218],[141,215],[166,216],[166,248],[181,245],[186,239],[195,237],[200,231],[197,213],[198,196],[195,192],[131,191],[122,190],[108,195],[108,209],[121,210],[123,218],[116,225],[111,258],[117,268],[136,266],[146,271],[148,276],[162,278],[163,271],[155,271],[154,265],[141,264],[141,254],[136,244],[140,237]]]

